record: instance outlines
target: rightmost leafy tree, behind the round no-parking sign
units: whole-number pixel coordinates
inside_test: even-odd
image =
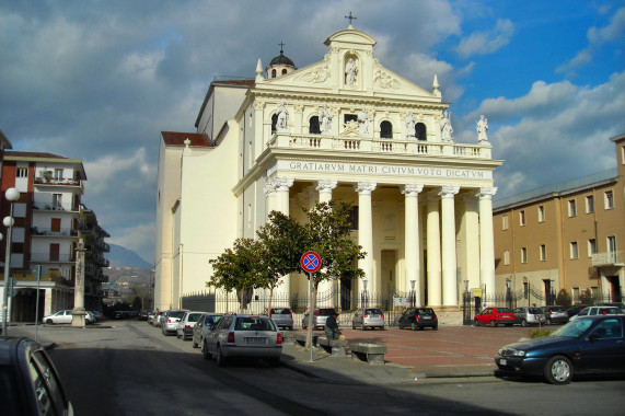
[[[357,262],[364,258],[367,253],[351,238],[349,222],[351,207],[351,204],[329,201],[316,204],[310,210],[304,209],[309,220],[304,226],[308,250],[316,252],[323,263],[322,268],[312,274],[312,311],[309,314],[309,327],[312,327],[312,312],[316,309],[320,282],[364,276],[364,271],[358,268]],[[303,273],[301,266],[300,270]],[[306,339],[306,345],[310,345],[310,339]]]

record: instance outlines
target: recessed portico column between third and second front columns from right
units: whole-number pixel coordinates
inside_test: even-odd
[[[442,305],[442,286],[440,268],[440,213],[439,195],[432,192],[428,195],[427,204],[427,258],[428,258],[428,305]]]

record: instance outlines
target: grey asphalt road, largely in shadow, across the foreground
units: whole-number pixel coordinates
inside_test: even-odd
[[[625,380],[565,386],[495,377],[409,385],[311,379],[264,362],[218,368],[190,342],[139,321],[45,327],[77,415],[593,415],[623,414]],[[12,335],[15,331],[13,331]]]

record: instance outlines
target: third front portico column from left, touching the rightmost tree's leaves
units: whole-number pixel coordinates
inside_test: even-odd
[[[367,253],[364,258],[358,261],[358,267],[364,270],[368,280],[367,291],[370,293],[379,290],[375,281],[379,276],[373,273],[373,216],[371,211],[371,192],[375,189],[375,182],[359,182],[354,188],[358,193],[358,244]],[[362,291],[362,279],[359,289]]]

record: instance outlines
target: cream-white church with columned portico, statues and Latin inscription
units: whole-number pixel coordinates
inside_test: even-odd
[[[394,73],[351,25],[325,45],[303,68],[280,50],[266,68],[258,59],[255,79],[215,80],[194,132],[162,131],[155,308],[215,291],[209,259],[255,238],[271,210],[304,221],[302,207],[331,199],[355,207],[366,277],[324,284],[320,292],[351,299],[321,303],[349,310],[363,291],[412,292],[417,305],[458,311],[466,289],[495,290],[493,172],[502,161],[487,126],[456,143],[436,74],[427,90]],[[285,276],[276,292],[305,297],[308,279]]]

